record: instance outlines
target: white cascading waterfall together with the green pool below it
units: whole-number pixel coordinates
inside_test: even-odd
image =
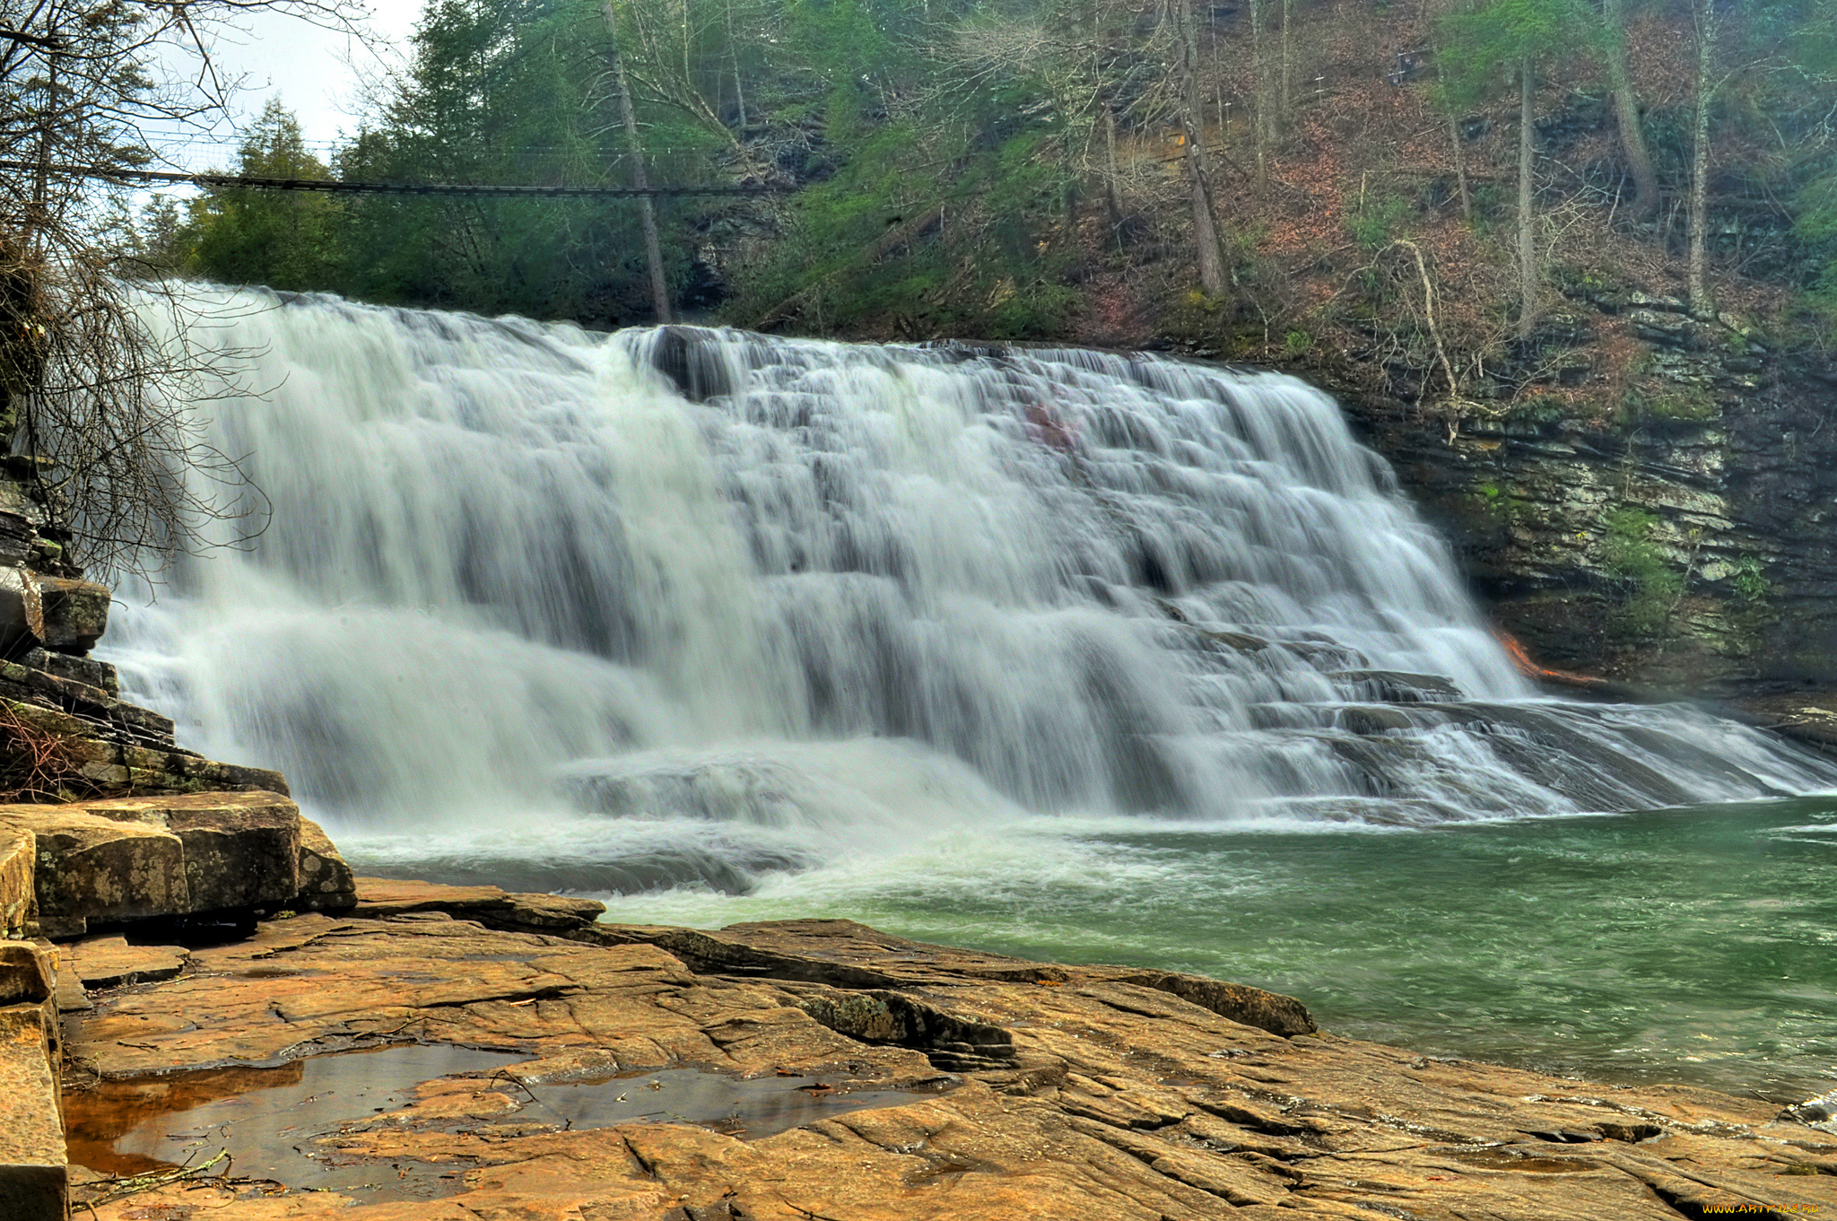
[[[105,654],[360,872],[1198,969],[1547,1069],[1837,1072],[1837,804],[1705,804],[1837,769],[1536,698],[1301,382],[193,292],[272,525],[123,591]]]

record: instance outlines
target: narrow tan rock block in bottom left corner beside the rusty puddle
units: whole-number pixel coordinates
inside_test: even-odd
[[[0,1217],[70,1212],[64,1124],[44,1008],[0,1008]]]

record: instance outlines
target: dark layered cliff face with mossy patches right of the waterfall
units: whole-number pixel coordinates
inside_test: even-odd
[[[1549,393],[1455,422],[1350,391],[1354,426],[1538,663],[1651,694],[1837,681],[1837,367],[1679,299],[1567,297]]]

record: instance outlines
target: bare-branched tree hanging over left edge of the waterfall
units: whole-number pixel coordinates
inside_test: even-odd
[[[0,441],[61,523],[53,566],[147,571],[259,505],[191,422],[220,358],[156,323],[154,301],[180,299],[108,241],[110,174],[156,162],[154,132],[226,114],[235,81],[209,46],[254,9],[358,17],[351,0],[0,0]]]

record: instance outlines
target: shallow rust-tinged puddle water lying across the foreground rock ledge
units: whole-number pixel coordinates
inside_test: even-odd
[[[103,1175],[197,1166],[219,1151],[226,1173],[367,1199],[456,1192],[468,1162],[366,1157],[389,1131],[592,1129],[694,1124],[757,1140],[849,1111],[915,1102],[930,1091],[838,1091],[808,1076],[740,1080],[658,1069],[522,1083],[500,1072],[525,1054],[441,1043],[294,1059],[274,1069],[202,1069],[99,1081],[64,1096],[70,1160]]]

